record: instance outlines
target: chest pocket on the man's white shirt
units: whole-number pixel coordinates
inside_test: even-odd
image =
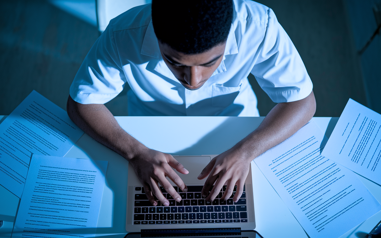
[[[238,96],[242,83],[238,87],[225,87],[219,84],[212,87],[212,107],[227,107]]]

